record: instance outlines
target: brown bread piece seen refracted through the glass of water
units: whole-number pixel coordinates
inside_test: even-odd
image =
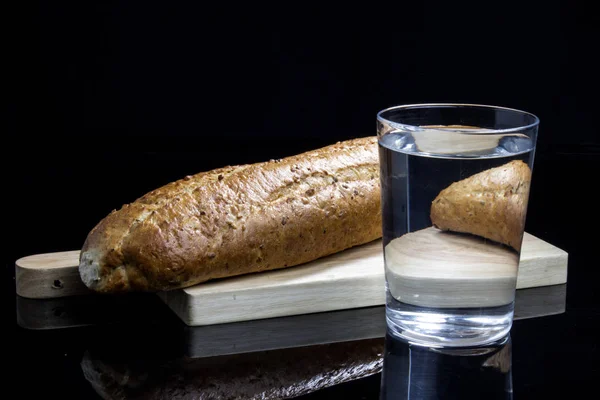
[[[522,161],[455,182],[433,200],[431,222],[521,250],[531,170]]]

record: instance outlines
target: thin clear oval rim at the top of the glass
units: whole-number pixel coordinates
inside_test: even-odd
[[[511,112],[516,112],[519,114],[524,114],[524,115],[529,115],[531,117],[533,117],[533,122],[531,124],[527,124],[527,125],[521,125],[521,126],[516,126],[514,128],[506,128],[506,129],[494,129],[494,128],[482,128],[482,129],[463,129],[463,131],[468,132],[470,134],[484,134],[484,135],[489,135],[490,133],[513,133],[513,132],[520,132],[523,130],[527,130],[527,129],[531,129],[534,128],[536,126],[538,126],[540,124],[540,119],[537,117],[537,115],[532,114],[530,112],[527,111],[523,111],[523,110],[518,110],[516,108],[509,108],[509,107],[501,107],[501,106],[492,106],[492,105],[487,105],[487,104],[471,104],[471,103],[415,103],[415,104],[403,104],[403,105],[399,105],[399,106],[393,106],[393,107],[388,107],[385,108],[381,111],[379,111],[377,113],[377,120],[380,122],[385,122],[389,125],[392,125],[396,128],[407,128],[407,130],[414,130],[414,128],[421,128],[421,126],[418,125],[410,125],[410,124],[403,124],[401,122],[394,122],[391,121],[385,117],[382,116],[383,113],[386,113],[388,111],[393,111],[393,110],[408,110],[408,109],[415,109],[415,108],[450,108],[450,107],[465,107],[465,108],[485,108],[485,109],[494,109],[494,110],[503,110],[503,111],[511,111]],[[410,129],[412,128],[412,129]],[[440,131],[446,131],[445,129],[440,129],[440,128],[427,128],[432,129],[432,130],[440,130]],[[453,131],[460,131],[461,129],[457,129],[457,128],[452,128]]]

